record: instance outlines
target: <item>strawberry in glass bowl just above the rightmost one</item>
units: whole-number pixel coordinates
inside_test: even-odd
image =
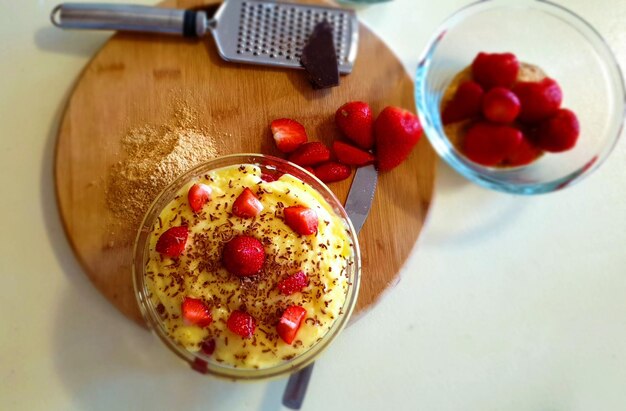
[[[522,105],[519,119],[527,123],[552,117],[563,101],[561,88],[551,78],[538,82],[520,81],[513,87],[513,92]]]

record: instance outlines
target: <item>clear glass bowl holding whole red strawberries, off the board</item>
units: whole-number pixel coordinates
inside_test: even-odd
[[[535,0],[487,0],[450,16],[417,69],[429,141],[484,187],[539,194],[597,169],[622,130],[624,82],[600,34]]]

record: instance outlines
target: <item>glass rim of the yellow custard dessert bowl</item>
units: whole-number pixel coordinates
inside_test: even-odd
[[[322,197],[330,204],[333,210],[339,215],[341,220],[346,224],[346,228],[352,242],[352,257],[351,257],[351,269],[348,276],[348,287],[346,291],[346,299],[341,308],[342,315],[333,322],[330,329],[321,337],[321,340],[314,343],[312,347],[304,351],[301,354],[296,355],[291,360],[287,360],[281,364],[268,367],[268,368],[235,368],[232,366],[221,366],[211,361],[211,357],[203,354],[202,352],[191,352],[180,346],[172,338],[169,337],[167,329],[163,321],[160,320],[156,307],[152,304],[148,297],[149,291],[144,281],[145,278],[145,258],[148,252],[148,239],[151,227],[156,221],[158,215],[162,211],[162,208],[169,203],[175,193],[184,184],[187,184],[193,178],[201,176],[208,171],[217,170],[220,168],[250,164],[261,167],[275,167],[274,169],[288,172],[296,178],[309,184],[314,190],[319,192]],[[289,373],[296,372],[313,361],[330,345],[335,337],[343,330],[347,325],[352,312],[356,306],[358,299],[360,279],[361,279],[361,253],[358,242],[357,234],[354,230],[352,222],[348,217],[343,205],[335,194],[318,178],[304,170],[302,167],[283,160],[278,157],[268,156],[257,153],[240,153],[230,154],[225,156],[219,156],[196,167],[190,169],[184,174],[177,177],[174,181],[167,185],[152,202],[148,211],[144,215],[142,223],[138,229],[137,236],[135,237],[133,248],[133,263],[132,263],[132,277],[133,288],[137,303],[139,305],[141,314],[150,328],[150,330],[156,334],[157,337],[178,357],[187,362],[192,369],[197,369],[194,365],[197,361],[202,361],[202,373],[211,374],[217,377],[227,378],[231,380],[260,380],[277,378]]]

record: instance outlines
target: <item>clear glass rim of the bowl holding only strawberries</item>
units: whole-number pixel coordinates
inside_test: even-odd
[[[433,55],[446,32],[454,28],[467,17],[486,10],[504,7],[531,8],[538,10],[550,14],[552,17],[558,18],[574,28],[585,38],[594,51],[599,54],[602,60],[602,65],[607,68],[607,76],[618,86],[614,88],[614,90],[618,93],[616,101],[621,101],[622,103],[622,111],[619,118],[616,118],[615,120],[616,122],[619,121],[619,124],[617,125],[614,135],[612,133],[611,136],[609,136],[610,141],[599,149],[595,156],[587,160],[576,170],[550,181],[540,183],[506,183],[501,181],[498,178],[499,176],[514,173],[516,170],[519,170],[520,167],[505,169],[486,167],[466,159],[458,153],[458,150],[452,145],[445,133],[440,132],[431,123],[429,118],[429,110],[427,108],[428,103],[426,102],[427,93],[424,91],[425,79],[429,74]],[[576,26],[573,22],[577,23],[578,26]],[[602,163],[604,163],[609,154],[615,148],[615,145],[617,144],[624,129],[624,118],[626,116],[626,90],[624,86],[624,76],[615,54],[609,47],[608,43],[591,25],[591,23],[585,20],[582,16],[549,0],[515,0],[515,2],[512,2],[511,0],[478,0],[456,10],[437,27],[435,34],[431,36],[426,48],[419,58],[415,78],[414,95],[418,109],[418,117],[424,128],[424,133],[437,154],[466,179],[480,186],[510,194],[534,195],[550,193],[555,190],[569,187],[573,183],[580,181],[583,177],[591,174],[593,171],[598,169]]]

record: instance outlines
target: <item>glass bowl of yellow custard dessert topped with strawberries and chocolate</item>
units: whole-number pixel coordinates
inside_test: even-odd
[[[347,324],[360,279],[357,236],[306,170],[236,154],[169,185],[134,250],[142,314],[201,373],[276,377],[312,361]]]

